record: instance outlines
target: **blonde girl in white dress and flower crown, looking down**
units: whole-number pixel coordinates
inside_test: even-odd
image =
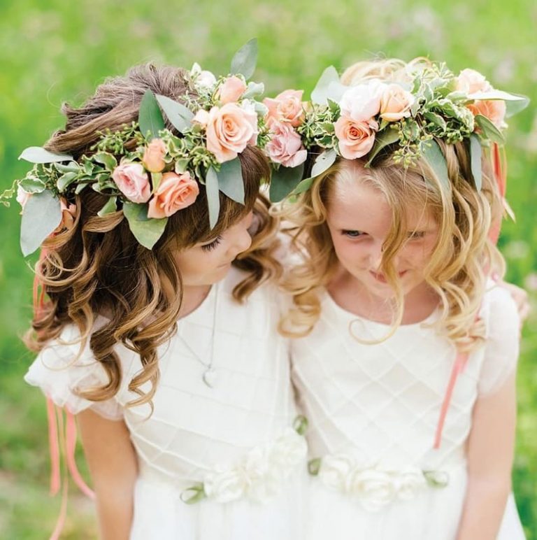
[[[359,64],[306,115],[306,148],[333,162],[285,206],[303,257],[282,329],[310,422],[308,539],[524,537],[508,499],[519,320],[492,279],[503,201],[481,152],[503,116],[450,94],[496,99],[468,71]]]

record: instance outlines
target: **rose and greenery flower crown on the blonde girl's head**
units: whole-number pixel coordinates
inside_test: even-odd
[[[333,66],[325,69],[311,94],[286,90],[265,99],[273,164],[271,200],[309,189],[336,157],[365,157],[366,166],[387,145],[395,145],[394,163],[408,167],[424,158],[449,188],[447,164],[435,138],[468,141],[475,188],[482,183],[482,148],[503,145],[505,118],[522,111],[527,97],[495,90],[484,76],[464,69],[454,76],[445,64],[407,64],[408,81],[375,78],[354,86],[341,84]],[[308,153],[317,154],[303,178]]]

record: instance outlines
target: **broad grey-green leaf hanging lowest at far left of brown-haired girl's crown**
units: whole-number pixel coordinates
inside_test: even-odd
[[[41,246],[43,241],[62,222],[59,199],[45,190],[33,194],[24,206],[20,226],[20,248],[27,257]]]

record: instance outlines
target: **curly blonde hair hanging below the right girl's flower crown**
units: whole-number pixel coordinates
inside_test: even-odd
[[[488,238],[492,216],[501,211],[501,199],[488,162],[484,162],[480,191],[471,182],[471,164],[464,143],[447,145],[438,140],[447,162],[450,190],[446,190],[423,159],[408,169],[394,164],[389,149],[366,168],[364,159],[338,159],[316,178],[299,201],[289,203],[282,216],[293,227],[288,232],[303,262],[289,270],[283,287],[292,294],[294,306],[280,322],[287,336],[307,335],[320,317],[319,292],[334,277],[338,259],[334,250],[327,211],[339,183],[366,182],[384,194],[392,209],[392,225],[382,253],[382,272],[394,290],[394,317],[387,339],[401,323],[404,298],[394,258],[407,241],[408,208],[426,208],[438,223],[438,237],[427,267],[427,284],[440,299],[441,317],[435,323],[441,334],[461,351],[478,347],[485,328],[477,320],[487,277],[503,275],[503,258]]]

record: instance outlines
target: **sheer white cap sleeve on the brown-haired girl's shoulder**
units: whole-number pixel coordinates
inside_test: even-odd
[[[93,357],[89,342],[77,357],[80,343],[73,342],[79,337],[78,329],[66,327],[58,339],[41,350],[24,376],[24,381],[41,388],[57,406],[65,407],[73,414],[91,408],[103,418],[120,420],[123,418],[122,406],[115,398],[92,402],[78,395],[78,390],[108,383],[106,371]]]

